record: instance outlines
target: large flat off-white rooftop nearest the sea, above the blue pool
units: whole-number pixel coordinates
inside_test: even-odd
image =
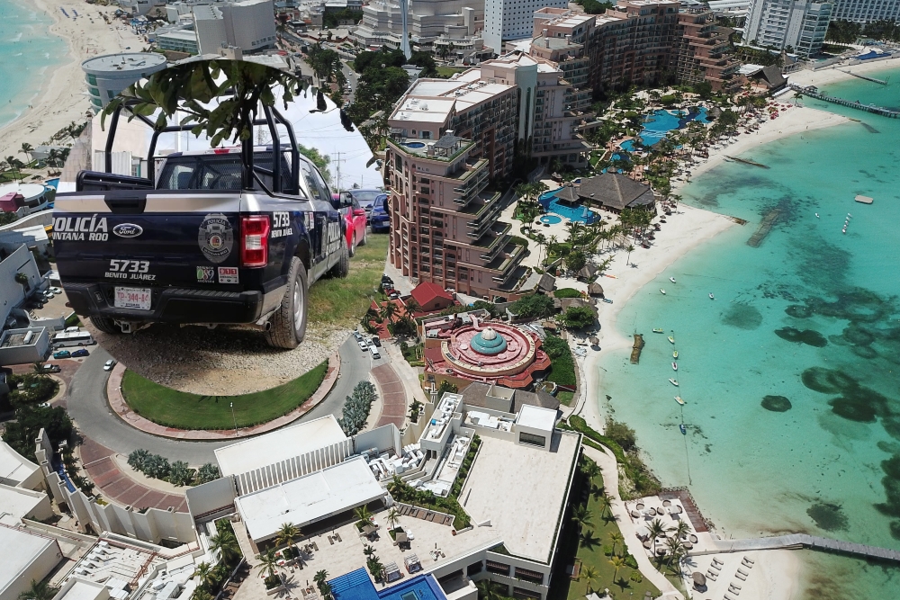
[[[554,432],[550,452],[482,436],[460,500],[473,524],[490,522],[510,554],[546,563],[577,457],[574,434]]]

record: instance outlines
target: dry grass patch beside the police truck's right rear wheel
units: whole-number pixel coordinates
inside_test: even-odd
[[[310,288],[310,323],[356,326],[365,315],[384,273],[389,236],[367,236],[365,246],[356,248],[350,259],[350,274],[344,279],[324,278]]]

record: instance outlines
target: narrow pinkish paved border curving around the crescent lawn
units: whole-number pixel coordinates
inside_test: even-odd
[[[107,381],[106,383],[106,398],[109,400],[112,412],[119,416],[122,421],[124,421],[128,425],[131,425],[135,429],[139,429],[144,433],[158,435],[160,437],[169,437],[175,440],[215,442],[223,440],[233,440],[240,437],[249,437],[250,435],[265,434],[267,432],[274,431],[279,427],[284,427],[284,425],[293,423],[293,421],[296,421],[301,416],[310,412],[323,399],[325,399],[326,396],[329,395],[329,391],[331,391],[331,388],[334,387],[335,382],[338,381],[338,375],[340,374],[340,356],[338,354],[334,354],[329,358],[329,369],[325,373],[325,379],[319,386],[319,390],[316,390],[315,393],[312,394],[310,399],[306,400],[306,402],[303,402],[300,407],[294,408],[287,415],[279,416],[278,418],[269,421],[268,423],[255,425],[253,427],[242,427],[238,430],[238,435],[235,435],[234,431],[231,429],[175,429],[174,427],[157,425],[153,421],[150,421],[143,416],[139,416],[137,413],[131,410],[131,407],[128,406],[128,404],[125,402],[125,399],[123,399],[121,396],[121,378],[124,372],[125,366],[121,363],[117,364],[112,370],[112,373],[110,373],[109,381]]]

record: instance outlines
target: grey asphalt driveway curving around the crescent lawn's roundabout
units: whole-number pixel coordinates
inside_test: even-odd
[[[339,353],[341,370],[335,387],[319,406],[302,416],[300,422],[328,414],[340,416],[344,400],[353,391],[356,383],[368,380],[369,370],[372,367],[371,354],[363,353],[353,337],[348,338],[340,346]],[[103,371],[103,363],[110,358],[110,354],[102,347],[95,346],[68,387],[67,411],[75,421],[80,434],[121,454],[143,448],[165,456],[169,461],[186,461],[192,466],[215,462],[213,451],[232,443],[173,440],[145,434],[126,425],[112,412],[106,401],[106,381],[109,379],[109,372]],[[384,353],[379,363],[387,362],[387,353]]]

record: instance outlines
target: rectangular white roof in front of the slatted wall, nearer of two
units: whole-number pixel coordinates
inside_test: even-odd
[[[384,497],[385,491],[361,456],[272,488],[238,497],[235,504],[254,542],[277,533],[283,523],[304,527]]]

